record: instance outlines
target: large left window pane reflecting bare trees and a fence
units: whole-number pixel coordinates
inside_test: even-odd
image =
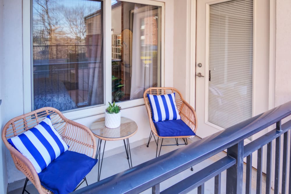
[[[33,0],[33,109],[104,104],[103,1]]]

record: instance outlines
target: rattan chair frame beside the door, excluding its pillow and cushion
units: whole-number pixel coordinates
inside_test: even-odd
[[[171,93],[175,93],[175,102],[176,102],[178,112],[181,116],[181,120],[184,121],[191,128],[191,130],[194,131],[194,133],[196,132],[196,129],[197,129],[196,113],[195,113],[194,109],[187,102],[185,102],[181,93],[177,89],[175,89],[175,88],[148,88],[147,90],[145,90],[145,92],[143,93],[143,99],[145,101],[145,107],[146,107],[147,112],[148,112],[148,118],[150,120],[150,128],[151,128],[150,137],[148,139],[147,147],[150,143],[152,136],[154,136],[154,135],[157,136],[157,140],[154,136],[155,142],[157,144],[156,157],[157,157],[157,152],[158,152],[159,138],[162,138],[162,143],[161,143],[160,150],[159,150],[159,155],[160,155],[162,146],[165,146],[165,145],[162,145],[164,138],[175,138],[176,144],[173,144],[173,145],[187,145],[188,144],[187,137],[190,137],[190,136],[163,137],[163,136],[159,136],[159,134],[157,133],[157,129],[156,129],[155,124],[152,120],[152,111],[151,111],[150,102],[149,102],[149,99],[147,97],[147,94],[165,95],[165,94],[171,94]],[[182,138],[184,143],[179,144],[178,138]]]

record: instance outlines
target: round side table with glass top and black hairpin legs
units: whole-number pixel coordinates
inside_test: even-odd
[[[106,141],[123,140],[125,152],[127,155],[128,165],[129,165],[129,168],[132,168],[129,137],[136,134],[136,131],[137,131],[136,122],[134,122],[133,120],[129,118],[121,117],[120,126],[114,129],[110,129],[105,126],[105,118],[103,117],[103,118],[95,120],[91,124],[90,129],[93,132],[94,136],[99,138],[98,144],[97,144],[97,154],[96,154],[96,159],[98,157],[98,181],[100,180]],[[104,146],[103,146],[103,154],[102,154],[101,163],[100,163],[102,140],[104,140]],[[125,140],[126,140],[126,143],[125,143]]]

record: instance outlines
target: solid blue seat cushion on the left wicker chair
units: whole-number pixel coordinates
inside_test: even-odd
[[[91,171],[97,160],[66,151],[38,173],[41,185],[54,194],[71,193]]]

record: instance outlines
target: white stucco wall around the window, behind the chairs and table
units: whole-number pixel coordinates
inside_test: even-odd
[[[164,70],[164,82],[166,86],[172,87],[173,86],[173,9],[174,9],[174,2],[172,0],[162,0],[165,2],[165,55],[164,55],[164,63],[165,63],[165,70]],[[27,36],[28,29],[30,29],[29,25],[24,25],[22,23],[23,19],[23,10],[22,8],[26,9],[29,7],[26,3],[29,3],[30,1],[22,1],[22,0],[0,0],[0,2],[4,3],[4,9],[3,9],[3,16],[5,17],[3,19],[3,27],[0,26],[0,32],[1,29],[3,29],[3,46],[5,47],[5,50],[2,50],[0,52],[0,57],[5,56],[3,59],[3,63],[0,65],[0,69],[2,70],[2,75],[0,77],[0,84],[4,85],[2,88],[1,93],[3,96],[3,104],[1,105],[1,108],[5,114],[2,114],[2,124],[5,124],[8,120],[11,118],[22,115],[24,111],[26,110],[27,106],[24,104],[26,102],[25,97],[27,98],[27,91],[24,90],[27,85],[30,86],[29,81],[27,81],[27,76],[24,76],[27,74],[27,72],[30,72],[30,66],[29,62],[27,62],[27,54],[26,53],[29,47],[26,47],[26,44],[23,45],[23,42],[27,42]],[[23,5],[22,5],[23,3]],[[1,9],[0,9],[1,10]],[[25,15],[26,13],[29,13],[29,10],[24,10]],[[26,16],[27,17],[27,16]],[[0,15],[0,21],[2,21],[2,14]],[[0,39],[1,40],[1,39]],[[1,61],[1,58],[0,58]],[[143,106],[137,106],[133,108],[127,108],[122,110],[122,116],[129,117],[136,121],[138,124],[138,132],[136,135],[134,135],[132,138],[130,138],[131,144],[134,146],[137,146],[137,143],[139,140],[146,141],[146,139],[149,136],[150,133],[150,127],[148,124],[148,116],[145,111],[145,107]],[[76,121],[85,124],[86,126],[90,126],[91,122],[93,120],[103,117],[104,114],[95,115],[83,119],[77,119]],[[141,141],[141,143],[143,143]],[[144,142],[146,143],[146,142]],[[106,146],[106,150],[113,149],[116,147],[123,146],[123,141],[116,141],[116,142],[110,142],[108,146]],[[2,174],[5,174],[4,176],[7,177],[8,183],[12,183],[14,181],[20,180],[24,178],[24,175],[18,171],[15,168],[15,165],[12,161],[12,158],[7,151],[6,147],[3,146],[3,149],[5,150],[3,153],[4,157],[4,163],[3,169],[4,172],[0,169],[0,178]],[[5,159],[6,155],[6,159]],[[7,161],[7,165],[5,164]],[[6,175],[6,172],[8,172]],[[4,184],[4,187],[7,188],[7,179],[6,181],[1,181],[1,184]],[[0,188],[1,185],[0,185]],[[0,190],[0,193],[2,191]]]

